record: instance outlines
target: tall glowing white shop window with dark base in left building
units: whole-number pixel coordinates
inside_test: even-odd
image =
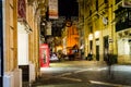
[[[22,80],[29,82],[28,29],[24,22],[17,22],[17,64],[22,70]]]

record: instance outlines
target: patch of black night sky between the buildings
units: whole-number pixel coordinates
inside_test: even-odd
[[[79,4],[76,0],[58,0],[60,16],[78,16]]]

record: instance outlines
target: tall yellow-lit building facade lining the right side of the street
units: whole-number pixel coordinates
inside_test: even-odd
[[[92,52],[93,60],[105,61],[109,53],[114,62],[130,63],[130,9],[122,5],[122,0],[79,0],[79,27],[83,26],[80,32],[84,32],[81,35],[84,38],[84,55]],[[121,8],[123,10],[120,11]],[[123,11],[127,11],[124,16],[128,16],[128,22],[121,25],[120,12]]]

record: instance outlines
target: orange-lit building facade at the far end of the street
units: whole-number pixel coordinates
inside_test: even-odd
[[[62,30],[62,46],[63,53],[69,54],[71,50],[76,47],[79,49],[79,32],[75,22],[67,22],[66,27]]]

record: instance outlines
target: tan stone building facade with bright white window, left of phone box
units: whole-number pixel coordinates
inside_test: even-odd
[[[2,71],[0,82],[2,87],[22,87],[25,79],[32,83],[40,76],[39,18],[46,13],[45,4],[47,0],[1,1],[3,55],[0,63],[0,72]],[[25,79],[23,79],[24,74],[27,74]]]

